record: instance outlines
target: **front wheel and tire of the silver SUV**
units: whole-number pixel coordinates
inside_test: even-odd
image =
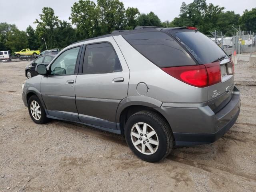
[[[38,108],[39,106],[39,108]],[[32,108],[33,107],[33,108]],[[32,108],[32,109],[31,109]],[[32,111],[36,112],[37,109],[38,115],[36,113],[32,114]],[[36,95],[32,95],[28,100],[28,112],[30,114],[30,117],[36,124],[45,124],[48,122],[48,118],[46,117],[46,113],[44,111],[44,107],[42,106],[39,98]],[[40,113],[41,115],[40,115]],[[34,117],[36,116],[36,118]]]

